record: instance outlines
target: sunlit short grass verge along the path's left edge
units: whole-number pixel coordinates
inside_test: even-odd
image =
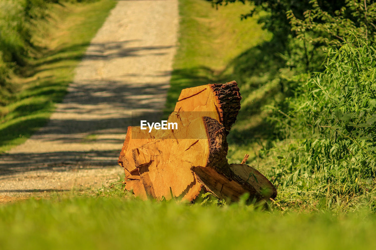
[[[114,0],[49,6],[47,20],[39,20],[33,42],[35,59],[21,69],[26,77],[12,77],[17,101],[0,107],[0,152],[23,143],[49,119],[61,102],[74,68],[92,37],[102,26]]]

